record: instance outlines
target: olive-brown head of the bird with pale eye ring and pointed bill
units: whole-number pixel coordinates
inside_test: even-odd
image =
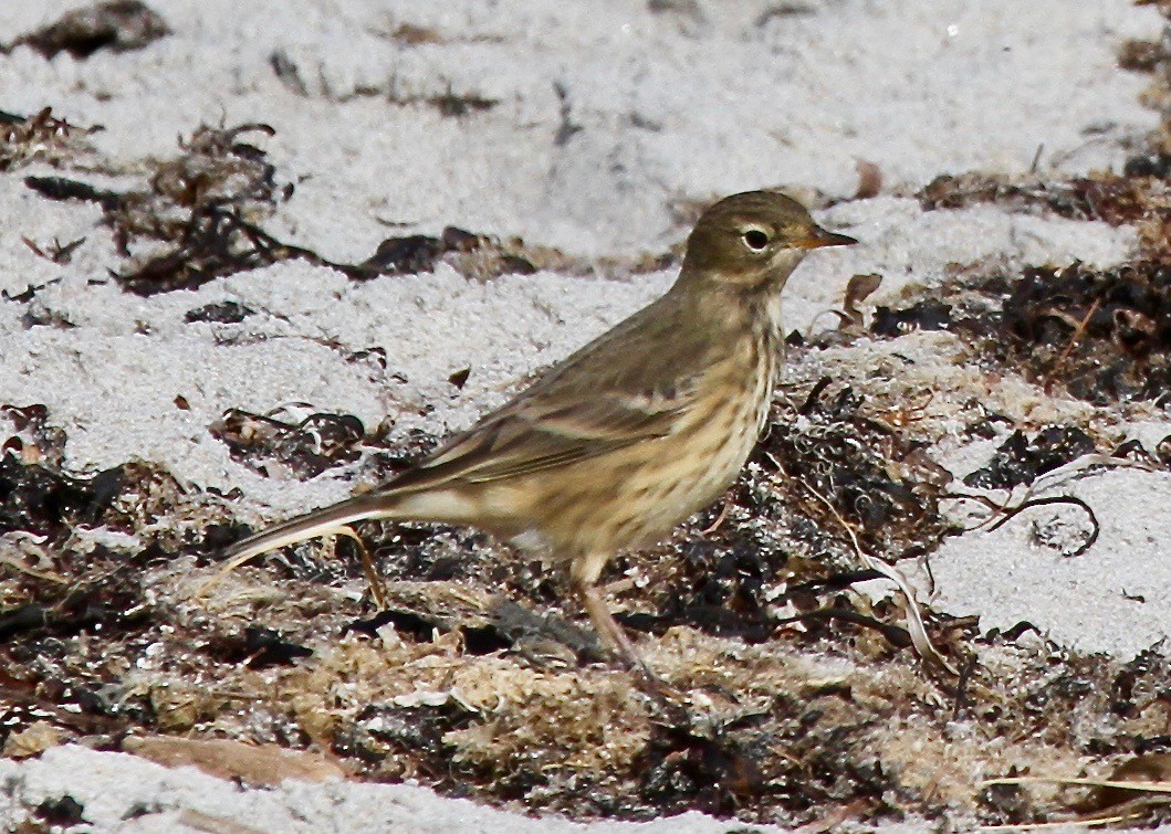
[[[793,198],[748,191],[703,213],[687,237],[679,280],[776,291],[810,249],[850,243],[857,241],[820,227]]]

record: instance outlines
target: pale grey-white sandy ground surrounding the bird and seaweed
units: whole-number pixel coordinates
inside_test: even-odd
[[[82,5],[5,4],[0,40]],[[103,127],[69,160],[33,158],[0,173],[0,402],[44,404],[50,425],[66,433],[70,470],[157,463],[193,490],[239,490],[234,506],[251,523],[344,497],[355,471],[265,477],[207,432],[225,409],[309,404],[368,427],[385,421],[392,440],[464,427],[516,380],[660,294],[671,269],[621,264],[678,243],[694,216],[689,207],[721,194],[785,186],[819,205],[826,225],[862,241],[810,257],[789,283],[786,326],[806,333],[830,326],[824,313],[840,305],[855,274],[882,275],[868,304],[889,305],[964,270],[1019,274],[1074,261],[1109,268],[1138,246],[1128,225],[995,202],[929,212],[915,193],[944,173],[1032,171],[1056,181],[1121,170],[1159,124],[1139,101],[1149,78],[1121,70],[1117,58],[1127,39],[1159,37],[1163,21],[1150,6],[152,0],[150,7],[171,32],[142,49],[47,58],[16,46],[0,55],[0,110],[52,106],[70,124]],[[463,104],[445,109],[445,97]],[[249,140],[266,151],[279,181],[294,186],[262,223],[281,240],[357,262],[391,235],[458,226],[519,235],[587,267],[475,281],[440,263],[432,273],[356,282],[288,261],[142,297],[111,278],[126,259],[96,205],[49,201],[23,185],[29,175],[141,185],[150,160],[178,152],[176,137],[201,123],[252,122],[275,130]],[[858,160],[881,171],[881,193],[843,201],[857,188]],[[59,263],[22,237],[41,248],[54,239],[85,240]],[[139,257],[150,251],[132,249]],[[232,325],[185,318],[224,302],[256,315]],[[55,326],[28,326],[30,313]],[[916,357],[916,373],[938,392],[930,406],[937,462],[957,476],[984,466],[1012,427],[981,441],[950,432],[949,409],[974,391],[972,380],[959,379],[956,337],[891,345],[862,339],[803,359],[801,373],[816,365],[863,378],[860,356],[875,367],[891,351]],[[341,356],[370,350],[386,357],[377,372]],[[464,368],[466,384],[452,385]],[[886,381],[897,391],[898,380]],[[1023,384],[988,398],[1015,427],[1088,414],[1081,401]],[[1171,435],[1171,419],[1157,408],[1103,420],[1119,442],[1135,437],[1153,448]],[[1038,524],[1076,532],[1082,523],[1068,508],[1042,509],[1040,521],[947,538],[931,557],[933,591],[918,577],[924,599],[939,612],[978,614],[984,630],[1029,621],[1061,647],[1119,661],[1165,640],[1171,475],[1111,469],[1052,489],[1094,508],[1101,535],[1090,551],[1070,558],[1036,544]],[[959,523],[972,521],[968,510],[954,510]],[[7,825],[68,793],[95,830],[207,830],[186,812],[260,830],[577,829],[417,787],[245,791],[81,747],[2,759],[0,776]],[[149,813],[123,822],[135,806]],[[727,825],[692,814],[641,829]]]

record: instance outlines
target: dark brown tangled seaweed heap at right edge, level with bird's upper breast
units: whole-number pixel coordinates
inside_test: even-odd
[[[1171,391],[1171,264],[1105,271],[1030,268],[1005,301],[1006,352],[1039,382],[1097,405],[1165,402]]]

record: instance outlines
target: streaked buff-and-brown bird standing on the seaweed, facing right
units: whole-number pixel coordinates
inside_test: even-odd
[[[782,194],[720,200],[662,298],[412,469],[227,556],[238,564],[370,518],[480,528],[567,564],[598,636],[642,668],[598,575],[728,488],[768,419],[786,280],[808,250],[855,242]]]

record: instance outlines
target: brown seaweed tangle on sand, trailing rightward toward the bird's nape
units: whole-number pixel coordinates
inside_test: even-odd
[[[48,111],[37,119],[32,126],[20,122],[9,129],[13,147],[29,145],[46,131],[62,136],[76,131],[53,119]],[[2,130],[0,124],[0,170],[5,164]],[[190,139],[180,139],[179,156],[153,164],[144,187],[126,192],[60,177],[29,177],[25,182],[52,200],[101,205],[115,244],[128,259],[115,277],[141,295],[194,289],[217,277],[293,259],[330,267],[354,280],[431,271],[440,262],[478,281],[506,274],[528,275],[539,269],[586,274],[596,268],[550,247],[529,246],[519,237],[500,240],[473,234],[454,226],[438,237],[416,234],[386,239],[361,263],[338,263],[280,241],[260,223],[292,197],[293,185],[280,182],[265,151],[244,140],[249,133],[273,132],[265,124],[203,125]],[[9,164],[15,164],[20,154],[13,151],[11,156]],[[630,271],[645,264],[609,266]]]

